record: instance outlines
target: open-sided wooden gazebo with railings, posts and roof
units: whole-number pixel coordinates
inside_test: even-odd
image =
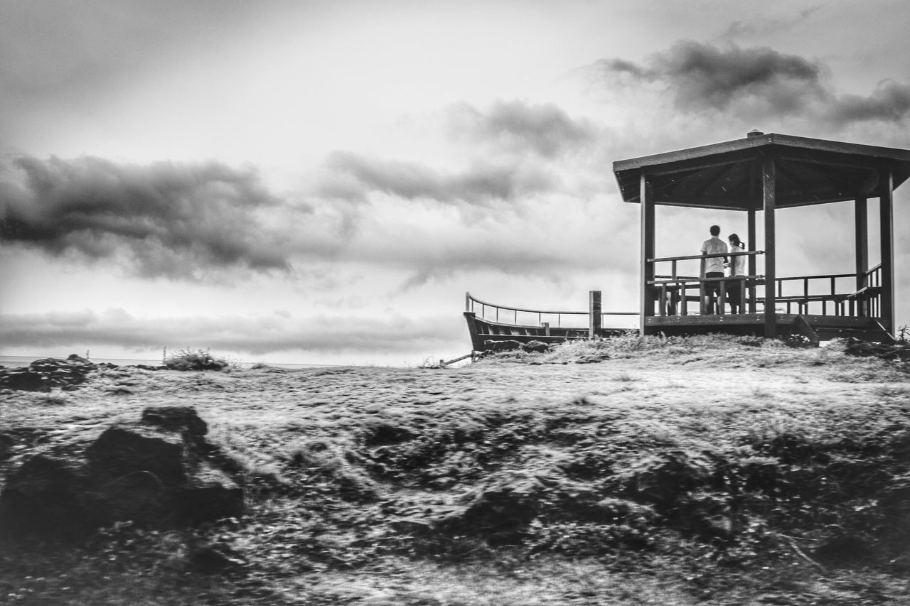
[[[743,139],[613,163],[626,202],[642,205],[642,334],[743,332],[819,339],[855,335],[887,341],[895,332],[893,192],[910,177],[910,150],[753,131]],[[867,200],[878,198],[881,263],[870,268]],[[778,209],[853,201],[855,271],[777,274]],[[742,313],[725,311],[729,279],[683,276],[678,265],[698,256],[655,258],[656,205],[743,211],[748,275],[740,277]],[[763,247],[755,246],[763,212]],[[763,274],[756,257],[763,255]],[[657,267],[670,266],[669,273]],[[704,285],[721,281],[717,313],[705,313]],[[697,305],[690,303],[697,302]]]

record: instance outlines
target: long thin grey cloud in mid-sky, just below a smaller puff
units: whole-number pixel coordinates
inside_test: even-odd
[[[555,185],[544,171],[528,170],[521,163],[479,163],[460,172],[443,173],[420,162],[336,152],[326,167],[329,177],[320,184],[319,195],[360,201],[377,191],[409,200],[489,206]]]

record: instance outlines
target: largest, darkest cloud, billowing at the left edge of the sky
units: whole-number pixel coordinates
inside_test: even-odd
[[[20,157],[0,174],[0,237],[55,256],[126,260],[146,277],[288,270],[279,233],[261,217],[277,205],[256,171],[217,162]]]

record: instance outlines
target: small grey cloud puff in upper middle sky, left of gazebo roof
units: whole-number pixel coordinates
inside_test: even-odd
[[[596,130],[585,120],[573,120],[559,106],[500,101],[481,112],[466,103],[450,110],[450,132],[456,138],[492,143],[517,152],[556,157],[590,144]]]

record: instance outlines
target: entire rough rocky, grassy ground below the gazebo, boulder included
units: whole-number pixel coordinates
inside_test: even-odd
[[[0,601],[910,603],[910,375],[874,349],[0,371]]]

